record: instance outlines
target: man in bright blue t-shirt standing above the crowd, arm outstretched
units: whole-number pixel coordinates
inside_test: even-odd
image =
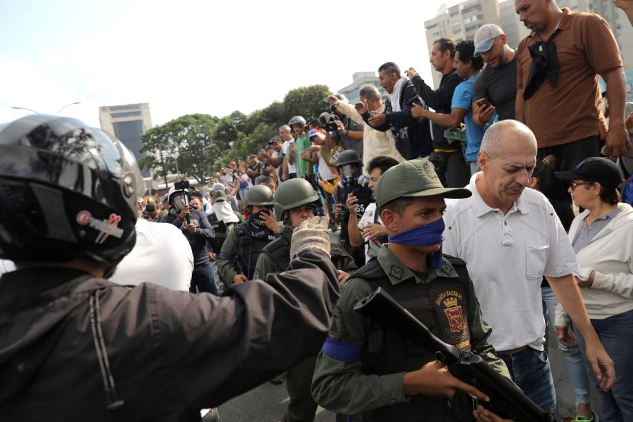
[[[473,84],[484,66],[481,56],[475,57],[474,52],[475,44],[471,40],[461,41],[455,46],[455,70],[464,81],[457,85],[455,92],[453,92],[451,114],[433,113],[419,105],[415,105],[411,109],[411,115],[415,118],[425,117],[444,127],[459,127],[460,123],[464,122],[466,125],[465,156],[471,174],[480,171],[477,164],[477,153],[487,128],[487,125],[479,127],[473,123]],[[492,118],[491,122],[495,120]]]

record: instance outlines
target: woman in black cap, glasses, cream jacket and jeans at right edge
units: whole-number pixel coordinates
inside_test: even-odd
[[[569,182],[574,203],[585,209],[572,222],[569,236],[587,313],[615,366],[613,388],[597,389],[603,420],[633,421],[633,209],[620,202],[621,174],[606,158],[587,158],[575,170],[557,171],[555,176]],[[556,317],[559,341],[573,344],[569,319],[560,304]],[[584,354],[583,339],[575,336]]]

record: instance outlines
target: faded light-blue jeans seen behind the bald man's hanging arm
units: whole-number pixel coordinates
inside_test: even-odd
[[[555,324],[555,308],[558,299],[550,286],[541,287],[541,293],[543,294],[543,302],[547,310],[546,321],[548,321],[549,325],[553,327]],[[548,337],[546,336],[546,338]],[[578,408],[578,405],[581,403],[589,403],[591,399],[589,393],[589,377],[587,375],[585,359],[580,352],[580,348],[577,344],[575,346],[564,346],[558,342],[556,337],[548,339],[548,341],[550,340],[557,342],[557,350],[563,354],[565,361],[567,362],[569,380],[576,392],[576,408]]]

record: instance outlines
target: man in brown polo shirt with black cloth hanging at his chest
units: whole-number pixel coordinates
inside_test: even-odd
[[[536,135],[539,157],[554,154],[557,169],[571,170],[599,156],[601,140],[604,154],[625,155],[631,148],[624,124],[626,81],[608,23],[597,14],[561,10],[555,0],[515,0],[515,8],[532,30],[517,50],[516,118]],[[612,102],[609,129],[599,76]],[[570,202],[562,183],[552,184],[546,195]]]

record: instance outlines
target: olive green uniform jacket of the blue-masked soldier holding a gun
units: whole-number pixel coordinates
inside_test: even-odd
[[[387,246],[378,252],[378,263],[389,277],[391,284],[398,284],[414,277],[416,283],[431,283],[438,277],[458,277],[451,263],[444,258],[442,268],[431,268],[425,279],[420,279],[402,264]],[[341,298],[334,308],[330,338],[347,344],[367,348],[371,321],[354,310],[354,305],[372,294],[372,287],[362,278],[352,278],[341,287]],[[508,377],[505,363],[496,355],[495,349],[487,341],[491,328],[482,319],[479,303],[475,297],[473,283],[469,281],[466,290],[469,310],[468,326],[471,335],[472,352],[480,355],[495,370]],[[374,339],[376,340],[376,339]],[[361,360],[346,363],[319,352],[312,379],[312,397],[331,412],[357,414],[369,412],[387,405],[408,400],[404,390],[405,372],[376,375],[361,372]]]

